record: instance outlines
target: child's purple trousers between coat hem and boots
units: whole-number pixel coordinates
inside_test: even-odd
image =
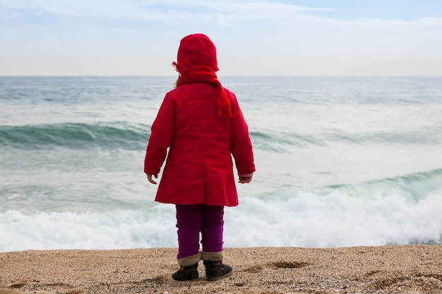
[[[222,252],[224,207],[212,205],[181,205],[177,207],[178,255],[177,259],[203,252]]]

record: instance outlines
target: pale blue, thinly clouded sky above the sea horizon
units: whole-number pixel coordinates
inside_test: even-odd
[[[0,75],[177,75],[196,32],[218,75],[442,75],[440,0],[0,0]]]

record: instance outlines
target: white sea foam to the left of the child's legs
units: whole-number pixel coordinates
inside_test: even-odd
[[[0,251],[173,246],[174,207],[98,213],[0,214]]]

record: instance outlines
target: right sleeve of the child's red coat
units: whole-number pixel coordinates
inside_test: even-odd
[[[230,119],[230,135],[232,140],[232,155],[237,166],[239,175],[247,175],[253,173],[255,164],[253,160],[253,149],[249,136],[249,126],[244,119],[241,109],[239,108],[237,97],[229,92],[232,102],[232,114]]]

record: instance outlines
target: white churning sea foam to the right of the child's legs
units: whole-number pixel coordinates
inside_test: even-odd
[[[441,197],[441,191],[414,201],[393,191],[370,197],[287,188],[227,209],[225,242],[234,247],[441,243]]]

